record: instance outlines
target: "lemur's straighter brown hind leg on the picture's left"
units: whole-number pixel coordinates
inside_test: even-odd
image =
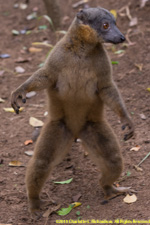
[[[52,168],[71,148],[73,136],[62,121],[48,122],[35,146],[34,155],[26,171],[26,188],[30,211],[41,206],[39,194]]]

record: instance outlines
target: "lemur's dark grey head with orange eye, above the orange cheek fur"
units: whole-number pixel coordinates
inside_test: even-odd
[[[77,13],[77,19],[79,20],[79,23],[89,25],[96,30],[104,42],[118,44],[125,41],[124,35],[116,26],[114,16],[106,9],[83,9]]]

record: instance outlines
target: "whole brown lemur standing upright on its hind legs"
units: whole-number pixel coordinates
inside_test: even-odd
[[[114,16],[103,8],[88,8],[77,13],[67,34],[57,43],[45,65],[13,93],[11,105],[19,113],[18,98],[46,89],[49,114],[26,171],[26,188],[31,212],[42,204],[39,194],[52,168],[80,138],[83,147],[100,168],[100,185],[107,199],[127,192],[114,187],[123,169],[120,146],[104,116],[104,104],[128,128],[134,128],[112,77],[110,59],[103,42],[122,43],[125,37]]]

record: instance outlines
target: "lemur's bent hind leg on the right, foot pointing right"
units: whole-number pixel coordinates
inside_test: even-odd
[[[128,187],[117,188],[113,185],[123,170],[123,162],[120,146],[107,122],[87,122],[80,133],[80,138],[83,146],[100,168],[100,185],[106,199],[128,192],[130,190]]]

